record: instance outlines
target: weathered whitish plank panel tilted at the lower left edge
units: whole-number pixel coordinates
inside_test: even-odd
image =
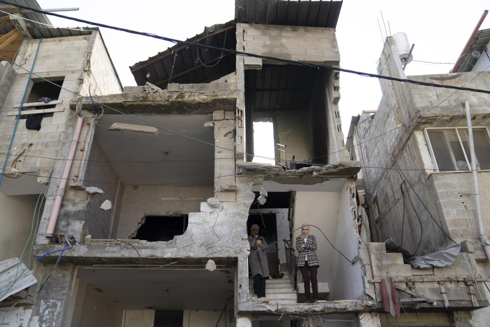
[[[18,269],[17,269],[18,268]],[[37,283],[36,277],[18,258],[0,262],[0,290],[9,289],[0,301]]]

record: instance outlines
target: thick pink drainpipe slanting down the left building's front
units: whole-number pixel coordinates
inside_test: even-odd
[[[60,213],[61,201],[63,201],[66,184],[68,183],[68,176],[71,170],[71,164],[73,162],[73,158],[75,157],[80,132],[82,131],[82,124],[83,117],[79,116],[77,126],[75,127],[75,133],[73,134],[73,139],[71,140],[70,152],[68,152],[68,157],[66,158],[65,169],[63,170],[63,176],[61,177],[60,187],[56,192],[55,205],[53,207],[53,212],[51,213],[50,223],[47,225],[46,237],[53,237],[53,233],[55,232],[58,214]]]

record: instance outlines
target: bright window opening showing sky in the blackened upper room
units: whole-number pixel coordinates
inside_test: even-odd
[[[274,124],[272,118],[254,122],[254,158],[252,162],[275,165]],[[267,157],[267,158],[263,158]]]

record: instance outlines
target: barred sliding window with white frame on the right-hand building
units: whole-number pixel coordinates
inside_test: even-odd
[[[434,168],[438,171],[471,170],[468,128],[424,130]],[[490,169],[490,137],[485,127],[473,128],[476,169]]]

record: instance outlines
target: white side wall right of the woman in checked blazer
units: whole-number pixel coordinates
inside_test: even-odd
[[[356,198],[353,187],[345,185],[340,192],[337,226],[334,230],[335,247],[349,260],[358,255],[356,226],[357,220],[353,213]],[[334,250],[331,259],[330,300],[355,300],[363,294],[360,262],[352,265]],[[334,278],[334,279],[333,279]]]

